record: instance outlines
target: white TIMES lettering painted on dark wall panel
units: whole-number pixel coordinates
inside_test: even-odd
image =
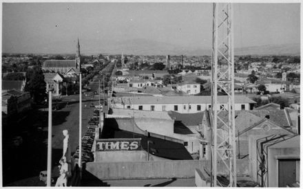
[[[97,140],[96,151],[140,151],[141,139]]]

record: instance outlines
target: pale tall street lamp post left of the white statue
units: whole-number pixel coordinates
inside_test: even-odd
[[[53,88],[48,89],[48,177],[46,180],[48,187],[52,184],[52,91]]]

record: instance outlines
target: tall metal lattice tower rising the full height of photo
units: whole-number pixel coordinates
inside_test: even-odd
[[[213,47],[211,53],[211,132],[213,137],[211,142],[211,186],[222,186],[217,175],[219,170],[227,168],[229,170],[229,186],[236,187],[233,12],[231,3],[213,3]],[[220,98],[218,98],[218,89],[227,93],[227,96],[219,96]],[[223,99],[227,100],[227,107],[222,106]],[[228,115],[228,120],[222,119],[219,115]],[[224,128],[227,134],[218,132],[218,125]],[[222,162],[226,168],[219,167],[218,162]]]

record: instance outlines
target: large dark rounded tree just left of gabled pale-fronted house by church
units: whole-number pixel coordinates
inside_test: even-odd
[[[25,85],[25,91],[29,91],[33,101],[39,104],[46,97],[46,83],[43,72],[41,69],[33,69],[27,73],[27,76],[30,77],[30,80]]]

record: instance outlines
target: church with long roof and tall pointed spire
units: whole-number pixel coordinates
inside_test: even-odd
[[[63,75],[71,75],[76,74],[81,69],[81,56],[80,56],[80,44],[79,44],[79,38],[78,43],[76,45],[76,58],[75,60],[45,60],[45,62],[42,65],[43,71],[50,71]]]

